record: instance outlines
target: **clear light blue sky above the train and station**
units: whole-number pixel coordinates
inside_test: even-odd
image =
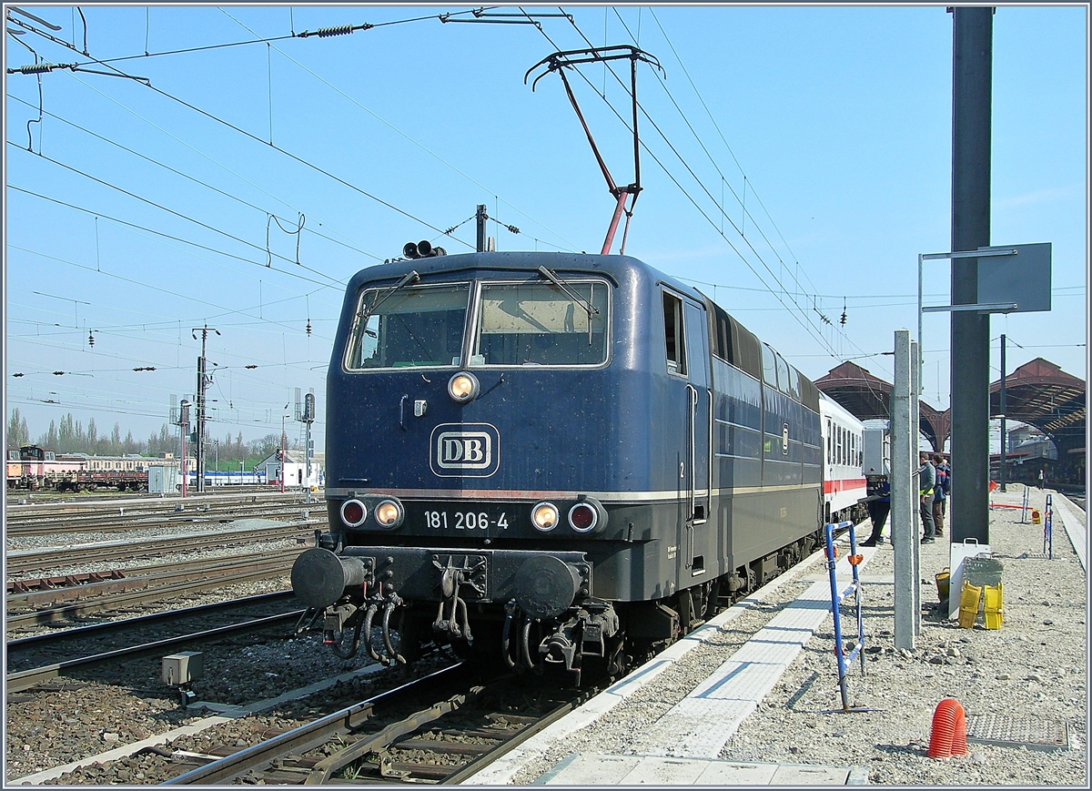
[[[280,432],[295,388],[313,388],[321,449],[354,272],[408,240],[471,250],[478,203],[499,249],[597,252],[613,199],[557,75],[523,83],[589,42],[636,43],[665,72],[638,73],[648,150],[627,252],[695,282],[809,377],[854,359],[890,380],[879,355],[916,329],[917,255],[950,249],[943,4],[573,4],[573,23],[541,29],[438,19],[474,19],[468,5],[84,4],[85,24],[75,7],[20,8],[60,29],[9,13],[27,26],[9,21],[26,31],[5,36],[9,69],[35,62],[28,47],[80,63],[41,74],[40,122],[38,78],[5,81],[5,420],[17,406],[34,438],[68,412],[100,433],[157,432],[170,396],[192,397],[191,329],[207,323],[222,333],[212,436]],[[1042,356],[1087,377],[1088,23],[1083,4],[994,17],[992,241],[1054,244],[1053,310],[992,320],[993,339],[1022,346],[1010,370]],[[115,70],[151,87],[93,73]],[[581,108],[627,184],[632,139],[610,108],[628,119],[628,97],[602,64],[581,74]],[[926,265],[927,304],[942,304],[949,265]],[[925,398],[940,409],[948,322],[925,317]]]

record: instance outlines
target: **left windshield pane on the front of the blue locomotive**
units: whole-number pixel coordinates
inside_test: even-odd
[[[458,365],[468,299],[466,283],[395,293],[368,288],[360,295],[345,367]]]

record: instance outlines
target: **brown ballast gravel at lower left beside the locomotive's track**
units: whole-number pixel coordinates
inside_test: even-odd
[[[321,635],[310,633],[293,637],[290,627],[288,633],[280,637],[236,638],[200,649],[204,676],[193,685],[198,700],[253,704],[373,664],[365,651],[351,660],[337,658],[322,645]],[[441,652],[435,659],[417,663],[412,672],[425,674],[451,661],[450,656]],[[319,710],[351,705],[375,695],[379,688],[404,683],[408,672],[391,669],[373,677],[354,678],[300,703],[289,703],[259,717],[233,720],[199,736],[179,740],[169,748],[207,752],[200,745],[242,746],[237,744],[239,739],[246,744],[254,744],[270,728],[290,727],[275,723],[277,718],[295,720]],[[199,704],[182,708],[161,680],[157,657],[134,660],[132,666],[124,669],[127,683],[119,684],[119,670],[108,668],[90,670],[78,678],[64,677],[48,685],[46,690],[19,695],[10,700],[5,713],[8,779],[15,780],[95,756],[215,713]],[[156,774],[149,771],[155,763],[154,755],[140,756],[139,762],[131,764],[130,768],[138,769],[128,779],[94,769],[90,774],[76,772],[62,782],[98,783],[104,779],[105,782],[155,782]],[[161,763],[166,764],[163,759]],[[138,771],[144,771],[145,778],[136,777]],[[169,775],[159,772],[161,779],[166,776]]]

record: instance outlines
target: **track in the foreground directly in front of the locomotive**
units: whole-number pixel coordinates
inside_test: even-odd
[[[593,694],[474,676],[456,664],[223,757],[168,754],[182,774],[163,784],[454,784]]]

